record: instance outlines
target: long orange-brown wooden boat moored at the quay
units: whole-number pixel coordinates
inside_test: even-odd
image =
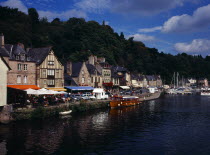
[[[139,97],[137,96],[114,96],[110,102],[111,108],[127,107],[139,104]]]

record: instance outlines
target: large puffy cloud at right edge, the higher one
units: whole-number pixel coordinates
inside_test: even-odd
[[[210,26],[210,4],[194,11],[193,15],[173,16],[163,25],[162,32],[200,31]]]

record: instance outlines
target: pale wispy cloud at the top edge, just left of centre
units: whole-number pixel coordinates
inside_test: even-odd
[[[110,7],[111,0],[81,0],[75,6],[85,12],[101,13]]]

